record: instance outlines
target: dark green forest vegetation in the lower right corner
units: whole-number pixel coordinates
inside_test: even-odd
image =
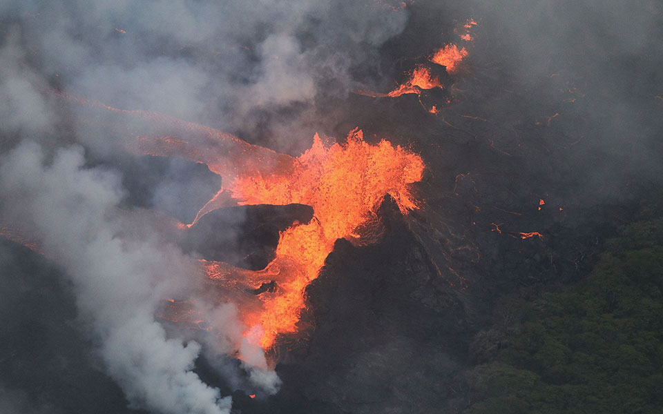
[[[472,344],[465,414],[663,413],[663,220],[628,226],[582,282],[507,308]]]

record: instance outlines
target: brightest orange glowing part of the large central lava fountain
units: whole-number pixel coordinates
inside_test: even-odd
[[[243,322],[260,326],[254,338],[270,348],[280,333],[294,333],[300,311],[305,308],[306,286],[316,277],[332,252],[336,239],[361,240],[361,226],[374,217],[381,200],[389,194],[403,214],[417,207],[410,184],[419,181],[424,164],[419,155],[387,141],[370,145],[361,130],[347,137],[347,144],[323,145],[318,135],[313,146],[296,159],[292,171],[264,175],[247,170],[229,186],[239,204],[307,204],[315,217],[309,224],[296,224],[280,233],[276,257],[259,272],[242,271],[255,286],[276,282],[274,293],[257,296],[258,304],[240,306]],[[208,262],[212,279],[228,284],[228,266]],[[251,339],[251,338],[249,338]]]

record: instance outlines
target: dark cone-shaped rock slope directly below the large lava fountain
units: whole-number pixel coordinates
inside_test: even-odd
[[[302,323],[314,328],[305,341],[285,338],[280,393],[265,411],[242,412],[432,412],[453,392],[469,335],[459,292],[388,197],[379,215],[383,240],[355,247],[339,239],[307,288]]]

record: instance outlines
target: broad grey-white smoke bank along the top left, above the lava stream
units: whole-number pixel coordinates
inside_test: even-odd
[[[386,3],[5,1],[0,19],[51,87],[236,132],[262,110],[346,96],[350,72],[378,64],[375,50],[405,27],[407,10]]]

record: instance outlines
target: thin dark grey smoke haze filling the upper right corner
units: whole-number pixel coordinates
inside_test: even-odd
[[[477,0],[472,9],[481,18],[471,60],[503,88],[477,110],[517,128],[559,114],[551,122],[568,141],[555,150],[582,175],[588,204],[622,197],[632,177],[660,180],[662,3]],[[504,105],[513,90],[527,101]]]

